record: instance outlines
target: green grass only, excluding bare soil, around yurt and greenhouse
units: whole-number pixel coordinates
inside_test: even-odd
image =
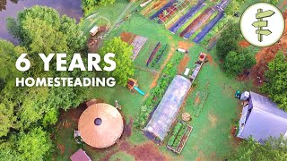
[[[100,15],[109,18],[110,22],[113,23],[117,20],[117,16],[124,10],[127,1],[119,0],[116,4],[108,7],[97,8],[92,13],[100,13]],[[130,10],[131,12],[136,8],[136,4],[133,4]],[[83,31],[89,30],[93,25],[93,21],[82,21]],[[143,17],[140,13],[135,13],[128,21],[125,21],[119,28],[112,30],[109,38],[118,37],[121,32],[128,31],[133,32],[137,35],[149,38],[147,43],[144,45],[143,50],[135,58],[135,76],[133,78],[138,79],[139,88],[145,93],[148,93],[154,75],[150,72],[150,68],[145,66],[146,60],[152,53],[152,49],[158,42],[162,45],[169,44],[170,47],[178,46],[178,41],[183,40],[177,35],[173,35],[169,30],[166,30],[162,25],[157,24],[155,21],[150,21],[146,17]],[[170,49],[169,49],[170,50]],[[192,68],[195,64],[197,57],[200,52],[206,52],[204,47],[199,45],[194,45],[189,49],[188,56],[190,56],[190,61],[187,64],[188,68]],[[238,118],[239,106],[238,100],[233,97],[234,91],[250,89],[252,85],[245,84],[235,80],[233,77],[226,75],[222,72],[219,59],[215,55],[214,49],[210,53],[213,56],[213,61],[204,64],[201,72],[196,78],[196,87],[193,91],[200,91],[204,89],[205,85],[209,83],[208,97],[206,98],[203,106],[203,110],[200,112],[198,117],[193,117],[192,121],[189,122],[194,127],[189,139],[187,140],[186,147],[183,148],[181,156],[173,155],[165,145],[156,146],[161,154],[169,157],[170,160],[196,160],[196,158],[201,158],[202,160],[222,160],[225,156],[229,155],[230,152],[236,147],[234,140],[230,136],[230,126],[233,120]],[[176,52],[171,60],[181,59],[183,54]],[[161,57],[165,60],[167,55]],[[161,64],[163,61],[161,62]],[[173,72],[170,75],[175,75],[177,73],[178,64],[173,66]],[[156,68],[157,69],[157,68]],[[148,71],[148,72],[145,72]],[[122,114],[129,123],[131,119],[135,120],[136,115],[139,112],[140,106],[143,105],[143,96],[138,93],[131,93],[126,87],[116,86],[114,88],[91,88],[89,90],[89,97],[97,98],[100,97],[105,100],[105,102],[114,105],[115,100],[119,102],[122,106]],[[191,91],[191,92],[193,92]],[[187,97],[188,101],[193,101],[193,97],[190,95]],[[193,113],[192,106],[187,105],[182,107],[182,110],[178,114],[180,118],[182,112]],[[59,121],[59,128],[56,134],[56,144],[63,145],[65,147],[64,154],[57,152],[56,160],[68,160],[69,157],[82,146],[76,145],[73,137],[74,129],[77,129],[77,123],[73,121],[70,117],[67,118],[68,122],[72,122],[69,128],[64,128],[61,123],[65,120]],[[172,131],[173,128],[170,129]],[[169,136],[167,137],[167,139]],[[132,128],[131,137],[127,138],[126,141],[133,146],[140,146],[143,143],[149,142],[145,137],[143,137],[143,131],[139,131]],[[167,140],[164,141],[165,143]],[[89,146],[83,146],[83,149],[93,160],[98,160],[105,157],[109,153],[113,153],[113,150],[117,150],[117,146],[113,148],[108,148],[105,150],[96,150],[89,148]],[[116,159],[121,160],[134,160],[133,156],[126,154],[126,151],[116,152],[111,155],[111,160]]]

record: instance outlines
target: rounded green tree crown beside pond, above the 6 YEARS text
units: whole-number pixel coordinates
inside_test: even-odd
[[[7,19],[7,28],[31,52],[80,52],[86,47],[75,20],[46,6],[36,5],[18,13],[17,19]]]

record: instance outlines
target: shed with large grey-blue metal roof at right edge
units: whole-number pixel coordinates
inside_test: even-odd
[[[239,121],[241,139],[252,136],[260,143],[269,137],[278,138],[287,132],[287,113],[268,97],[250,92],[249,103],[243,107]]]

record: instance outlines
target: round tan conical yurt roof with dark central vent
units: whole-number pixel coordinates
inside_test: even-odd
[[[93,104],[81,115],[78,129],[85,143],[94,148],[108,148],[124,130],[121,114],[109,104]]]

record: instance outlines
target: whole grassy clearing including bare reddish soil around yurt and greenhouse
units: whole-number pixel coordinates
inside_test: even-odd
[[[100,20],[97,16],[109,19],[109,26],[112,28],[117,20],[122,19],[118,18],[118,15],[125,10],[127,4],[124,0],[118,0],[116,4],[96,8],[95,13],[99,14],[91,19],[81,21],[84,34],[87,34],[92,25],[97,24]],[[139,3],[131,4],[127,8],[126,14],[135,11],[138,5]],[[122,17],[124,16],[125,14]],[[228,156],[238,145],[238,141],[230,134],[233,121],[239,117],[239,103],[233,97],[234,91],[250,89],[252,84],[240,82],[222,72],[214,50],[208,52],[205,47],[190,40],[179,38],[178,35],[172,34],[170,30],[165,29],[157,21],[151,21],[143,16],[142,13],[135,13],[128,20],[123,21],[116,29],[110,31],[105,40],[119,37],[123,32],[131,32],[148,38],[143,49],[135,58],[135,76],[133,76],[133,78],[138,79],[139,88],[143,89],[146,95],[143,97],[119,86],[91,89],[89,97],[111,105],[114,105],[115,100],[117,100],[122,106],[121,114],[125,118],[123,136],[116,145],[107,149],[94,149],[88,145],[77,145],[73,134],[74,129],[77,129],[77,121],[84,106],[76,107],[67,112],[63,111],[54,136],[59,149],[58,154],[55,155],[57,156],[56,160],[67,160],[78,148],[83,148],[94,160],[222,160]],[[158,42],[161,42],[162,45],[168,44],[168,52],[162,55],[162,61],[159,62],[158,67],[147,67],[146,61]],[[178,47],[187,49],[188,54],[176,52]],[[208,63],[203,65],[196,78],[196,85],[191,89],[184,106],[181,107],[180,114],[178,114],[178,119],[182,112],[192,114],[192,121],[188,124],[194,128],[185,148],[178,157],[165,147],[166,144],[158,146],[144,137],[143,131],[136,129],[133,123],[143,101],[150,95],[152,88],[157,85],[161,78],[165,65],[170,60],[179,57],[181,60],[173,68],[176,73],[181,74],[187,67],[192,68],[194,66],[200,52],[208,55]],[[206,86],[208,87],[206,88]],[[195,97],[194,93],[197,92],[202,94]],[[190,105],[201,106],[202,110],[195,116],[193,106]]]

